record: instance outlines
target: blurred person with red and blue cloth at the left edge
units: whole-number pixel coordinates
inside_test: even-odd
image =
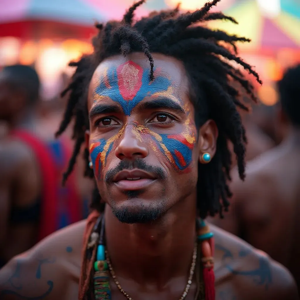
[[[38,131],[40,81],[29,66],[0,73],[0,265],[63,226],[81,219],[74,180],[61,188],[72,150]],[[61,200],[63,199],[63,200]]]

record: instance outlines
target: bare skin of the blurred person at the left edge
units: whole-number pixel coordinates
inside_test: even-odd
[[[3,74],[0,75],[0,111],[7,128],[7,134],[0,140],[0,260],[7,262],[35,244],[36,224],[13,225],[9,215],[12,206],[21,208],[35,204],[41,182],[31,149],[9,137],[12,129],[34,128],[32,110],[27,110],[25,96],[7,84]]]

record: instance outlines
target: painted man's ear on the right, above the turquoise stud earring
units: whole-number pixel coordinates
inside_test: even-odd
[[[218,134],[217,125],[213,120],[208,120],[201,126],[198,139],[199,162],[203,163],[202,155],[204,153],[208,153],[211,158],[214,157]]]

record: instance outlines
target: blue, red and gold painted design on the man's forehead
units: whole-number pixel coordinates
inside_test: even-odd
[[[96,84],[94,99],[99,101],[109,97],[121,105],[125,115],[130,115],[131,110],[146,96],[165,92],[162,95],[174,98],[170,76],[163,74],[161,68],[156,68],[155,79],[150,82],[149,74],[149,68],[143,69],[133,61],[119,67],[105,68]]]

